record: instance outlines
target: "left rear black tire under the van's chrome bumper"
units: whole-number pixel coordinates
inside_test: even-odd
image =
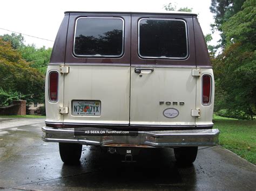
[[[78,164],[82,153],[82,146],[77,143],[59,143],[60,158],[62,158],[65,164]]]

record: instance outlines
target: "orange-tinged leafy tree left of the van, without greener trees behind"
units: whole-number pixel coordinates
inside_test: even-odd
[[[0,88],[7,94],[21,94],[27,102],[43,102],[44,75],[22,59],[9,41],[0,38]],[[1,104],[6,101],[1,100]]]

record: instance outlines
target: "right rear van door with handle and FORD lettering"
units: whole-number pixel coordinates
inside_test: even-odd
[[[131,126],[195,125],[192,17],[132,15],[131,39]]]

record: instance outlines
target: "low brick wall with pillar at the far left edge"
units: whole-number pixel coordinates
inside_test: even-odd
[[[26,115],[26,101],[13,101],[12,105],[0,107],[0,115]]]

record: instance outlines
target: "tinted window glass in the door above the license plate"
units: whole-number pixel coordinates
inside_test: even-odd
[[[123,53],[123,25],[119,18],[79,18],[74,53],[78,56],[120,56]]]

